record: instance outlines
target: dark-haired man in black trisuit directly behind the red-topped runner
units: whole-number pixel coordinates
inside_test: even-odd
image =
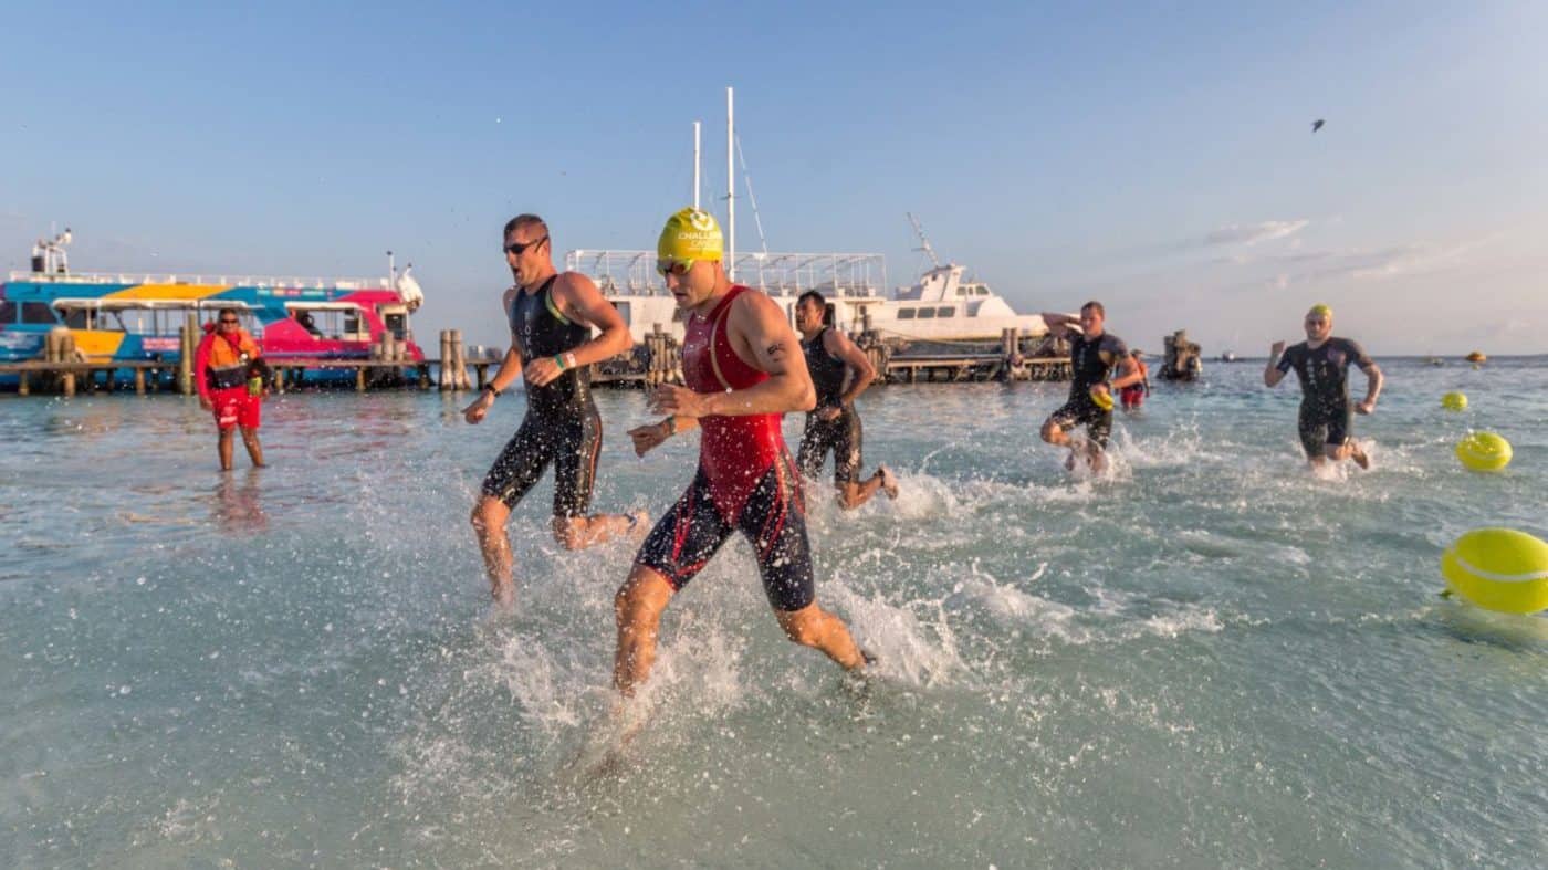
[[[854,398],[876,379],[876,368],[848,336],[827,320],[827,299],[816,289],[800,294],[796,328],[800,330],[807,372],[817,389],[817,407],[807,412],[797,463],[802,474],[816,478],[828,450],[833,450],[833,485],[839,489],[839,505],[848,511],[870,502],[878,489],[896,498],[898,480],[887,466],[876,466],[876,474],[861,480],[861,415],[854,410]],[[845,379],[848,389],[844,389]]]

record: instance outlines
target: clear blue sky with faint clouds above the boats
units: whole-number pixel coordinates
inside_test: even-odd
[[[1262,355],[1325,300],[1376,353],[1548,351],[1542,3],[59,9],[5,15],[6,268],[51,221],[77,269],[392,248],[421,336],[498,344],[503,221],[652,246],[695,119],[723,192],[732,85],[771,249],[907,283],[912,211],[1017,308],[1101,299],[1147,350]]]

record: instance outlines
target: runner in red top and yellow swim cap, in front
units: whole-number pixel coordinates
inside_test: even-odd
[[[613,686],[627,697],[644,683],[667,602],[737,531],[752,543],[785,636],[859,670],[865,655],[848,627],[816,604],[800,474],[780,433],[782,415],[817,404],[796,333],[772,299],[731,283],[707,212],[672,215],[656,252],[656,269],[687,314],[687,387],[656,387],[650,406],[667,418],[628,435],[639,455],[687,429],[703,435],[694,483],[646,539],[615,598]]]

